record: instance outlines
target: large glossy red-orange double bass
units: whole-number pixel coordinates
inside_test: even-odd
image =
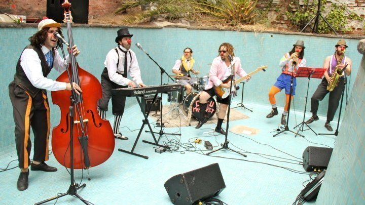
[[[62,4],[69,48],[72,48],[74,40],[70,6],[67,0]],[[109,121],[102,119],[97,112],[97,101],[101,98],[99,80],[79,66],[72,52],[69,52],[69,56],[68,69],[56,80],[71,85],[74,82],[83,92],[80,95],[67,90],[51,93],[53,104],[58,105],[61,110],[60,123],[52,131],[52,150],[57,161],[64,167],[70,168],[71,160],[74,162],[74,169],[95,167],[112,155],[115,146],[114,134]],[[70,110],[74,117],[69,117]],[[71,118],[74,120],[70,121]],[[70,134],[73,135],[73,154],[70,154]]]

